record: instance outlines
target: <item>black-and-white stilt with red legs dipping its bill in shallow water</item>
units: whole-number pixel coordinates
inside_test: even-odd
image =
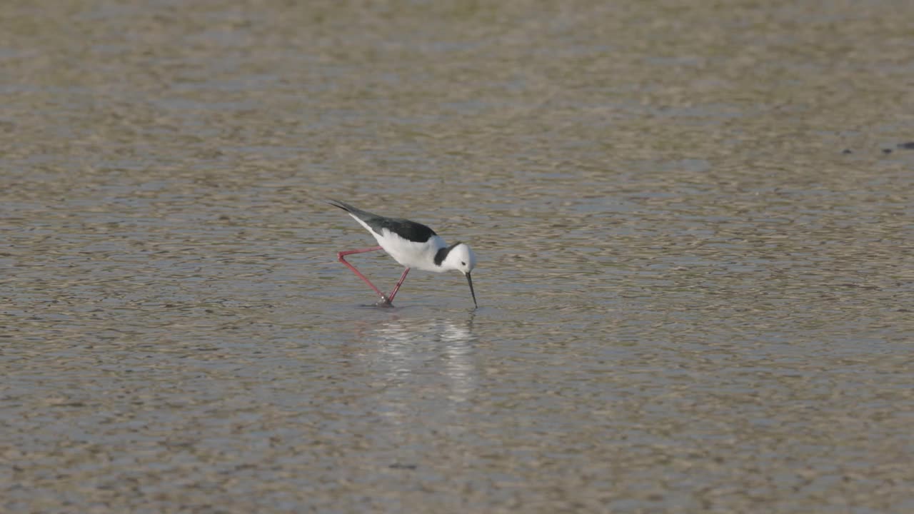
[[[391,302],[394,301],[394,296],[399,291],[399,286],[406,280],[406,274],[409,273],[411,268],[416,268],[427,272],[441,273],[457,270],[463,273],[466,275],[467,284],[470,284],[473,305],[478,306],[476,304],[476,294],[473,292],[473,279],[470,277],[470,272],[476,267],[476,254],[473,253],[473,250],[470,250],[469,246],[462,242],[455,242],[448,246],[444,240],[438,237],[434,230],[415,221],[378,216],[362,209],[356,209],[338,200],[328,200],[327,203],[348,212],[349,216],[352,216],[360,225],[371,232],[371,235],[375,236],[377,243],[380,244],[380,246],[371,248],[336,253],[340,262],[348,266],[353,273],[356,273],[381,297],[377,305],[391,305]],[[371,284],[371,281],[365,275],[356,270],[356,266],[345,260],[346,255],[375,252],[376,250],[388,252],[388,255],[393,257],[395,261],[406,266],[406,270],[400,276],[399,282],[387,296],[381,293],[381,290],[375,287],[375,284]]]

